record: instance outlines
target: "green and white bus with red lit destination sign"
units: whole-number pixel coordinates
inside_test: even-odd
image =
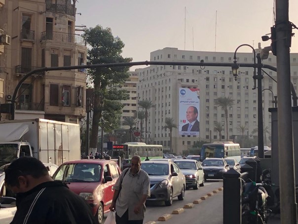
[[[112,149],[112,159],[131,159],[138,155],[142,161],[148,156],[149,159],[158,159],[163,156],[162,145],[148,145],[145,142],[126,142],[124,144],[114,144]]]

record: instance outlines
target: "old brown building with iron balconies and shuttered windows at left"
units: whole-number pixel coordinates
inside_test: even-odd
[[[86,63],[85,43],[75,34],[75,15],[72,0],[6,0],[0,21],[11,37],[11,45],[0,56],[1,66],[7,68],[6,103],[26,73],[40,67]],[[85,70],[34,74],[18,92],[15,119],[78,123],[85,116],[85,92]],[[2,114],[2,118],[9,119],[9,115]]]

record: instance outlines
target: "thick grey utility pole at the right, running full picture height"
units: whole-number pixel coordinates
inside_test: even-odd
[[[282,224],[297,223],[295,161],[291,103],[290,46],[292,25],[289,23],[289,1],[276,0],[276,67],[280,214]],[[275,36],[272,35],[271,36]]]

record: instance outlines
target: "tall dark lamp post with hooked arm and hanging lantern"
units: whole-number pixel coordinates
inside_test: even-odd
[[[262,79],[263,76],[261,74],[262,72],[262,68],[261,68],[261,56],[260,53],[257,54],[256,56],[256,51],[254,49],[253,46],[251,45],[240,45],[236,48],[235,53],[234,53],[234,64],[232,65],[232,73],[233,76],[235,78],[235,80],[237,80],[238,77],[238,70],[239,70],[239,66],[237,64],[237,57],[236,57],[236,52],[239,49],[239,47],[241,46],[249,46],[253,49],[254,52],[254,80],[255,80],[255,87],[253,88],[253,90],[256,89],[256,80],[258,80],[258,152],[259,152],[259,157],[260,158],[264,158],[264,138],[263,138],[263,108],[262,108]],[[258,59],[258,63],[256,63],[256,57]],[[256,73],[256,68],[258,68],[258,75]]]

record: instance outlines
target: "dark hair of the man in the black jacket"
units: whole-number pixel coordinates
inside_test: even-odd
[[[31,175],[33,178],[40,178],[48,175],[48,170],[38,159],[23,156],[14,160],[5,169],[5,183],[9,186],[18,186],[18,177]]]

